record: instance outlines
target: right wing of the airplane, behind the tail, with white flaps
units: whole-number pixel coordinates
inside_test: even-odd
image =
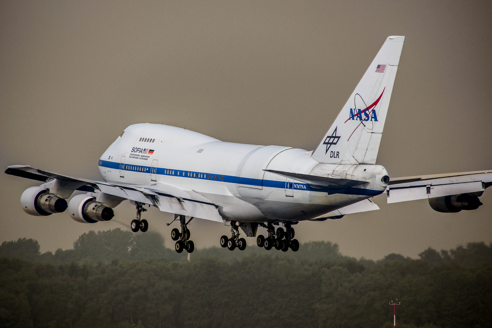
[[[386,189],[386,196],[388,203],[398,203],[483,192],[490,185],[492,170],[392,178]]]

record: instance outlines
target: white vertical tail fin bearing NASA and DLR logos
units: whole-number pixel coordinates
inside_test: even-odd
[[[312,157],[320,163],[375,164],[404,36],[389,36]]]

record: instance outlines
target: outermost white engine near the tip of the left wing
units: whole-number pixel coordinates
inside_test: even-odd
[[[66,201],[47,191],[43,187],[31,187],[24,190],[21,195],[22,209],[35,216],[47,216],[65,211]]]

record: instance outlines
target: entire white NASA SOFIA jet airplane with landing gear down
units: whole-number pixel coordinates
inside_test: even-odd
[[[131,229],[145,232],[145,206],[173,213],[181,223],[171,232],[178,253],[194,249],[187,229],[193,218],[229,225],[232,236],[222,236],[220,245],[230,250],[246,248],[241,228],[260,247],[297,251],[293,225],[379,209],[370,198],[383,192],[388,203],[428,199],[440,212],[477,209],[492,171],[390,179],[375,164],[403,41],[404,36],[386,39],[313,151],[234,144],[145,123],[128,126],[102,154],[98,167],[104,181],[24,165],[5,173],[43,182],[22,193],[22,208],[31,215],[68,208],[73,220],[96,223],[111,220],[112,208],[130,200],[137,211]],[[83,193],[67,204],[75,190]],[[258,226],[268,235],[257,236]]]

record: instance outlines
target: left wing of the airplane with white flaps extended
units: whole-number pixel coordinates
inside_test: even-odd
[[[62,181],[62,183],[50,184],[50,187],[56,189],[57,186],[62,184],[68,188],[71,187],[72,191],[81,190],[86,192],[95,192],[96,190],[99,190],[103,193],[118,196],[123,199],[154,205],[163,212],[193,216],[221,223],[223,222],[217,206],[206,197],[193,190],[183,190],[166,183],[154,183],[149,187],[109,183],[64,176],[31,168],[26,165],[8,166],[5,173],[48,183],[53,180],[59,180]],[[46,183],[47,187],[48,183]],[[51,188],[50,192],[52,192]],[[56,194],[56,192],[53,193]]]

